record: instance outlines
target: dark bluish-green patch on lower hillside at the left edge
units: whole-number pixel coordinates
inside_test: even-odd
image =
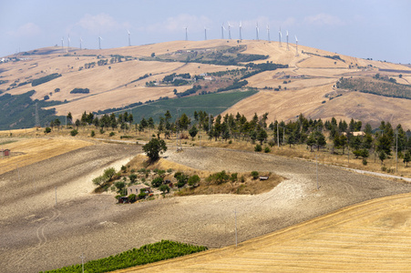
[[[38,108],[38,116],[41,125],[60,118],[63,116],[55,116],[56,110],[44,110],[42,107],[57,106],[61,102],[57,101],[33,101],[30,96],[35,94],[35,90],[29,91],[22,95],[12,96],[5,94],[0,96],[0,129],[19,129],[35,126],[36,103]]]

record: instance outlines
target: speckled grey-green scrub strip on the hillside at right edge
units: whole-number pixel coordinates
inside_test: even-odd
[[[411,99],[411,86],[396,84],[394,81],[386,81],[378,78],[340,78],[337,88],[359,91],[379,96],[399,97]]]

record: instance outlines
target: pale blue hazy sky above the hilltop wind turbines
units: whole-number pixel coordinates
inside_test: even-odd
[[[0,0],[0,57],[61,45],[111,48],[185,39],[231,38],[290,42],[337,54],[411,63],[411,1],[408,0]]]

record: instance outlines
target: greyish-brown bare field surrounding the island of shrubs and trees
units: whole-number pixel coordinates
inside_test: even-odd
[[[91,179],[79,184],[78,177],[101,169],[104,162],[120,159],[109,156],[118,149],[126,153],[122,158],[139,152],[134,146],[85,147],[26,167],[26,172],[45,172],[45,178],[37,182],[42,190],[32,191],[27,183],[15,182],[15,173],[0,176],[0,184],[5,182],[0,209],[4,272],[59,268],[79,263],[82,252],[87,260],[102,258],[162,238],[220,248],[234,243],[234,210],[239,241],[244,241],[370,198],[411,191],[411,185],[324,166],[318,167],[321,187],[317,191],[311,162],[190,148],[165,156],[189,167],[271,171],[287,179],[258,196],[177,197],[126,206],[115,205],[110,195],[70,194],[74,190],[71,184],[90,187]],[[77,164],[73,158],[80,157],[84,160]],[[68,193],[54,206],[56,186],[66,186]]]

